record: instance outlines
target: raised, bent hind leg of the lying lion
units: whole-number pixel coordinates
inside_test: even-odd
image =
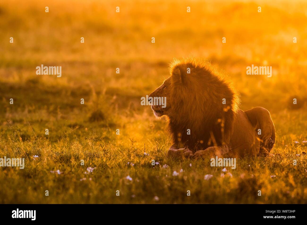
[[[269,111],[262,107],[255,107],[244,112],[261,140],[259,154],[271,155],[270,151],[275,143],[275,126]]]

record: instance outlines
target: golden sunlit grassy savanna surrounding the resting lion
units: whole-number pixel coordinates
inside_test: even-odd
[[[25,168],[0,167],[0,203],[307,203],[306,22],[304,1],[1,1],[0,157]],[[270,111],[274,158],[223,172],[166,157],[165,120],[140,99],[191,54],[230,77],[241,109]],[[251,64],[273,76],[246,75]]]

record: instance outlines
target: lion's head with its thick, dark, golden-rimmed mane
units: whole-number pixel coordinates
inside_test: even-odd
[[[216,73],[210,63],[193,58],[175,60],[171,76],[149,97],[166,97],[166,104],[151,105],[157,117],[167,116],[174,142],[189,148],[223,142],[230,132],[238,98],[231,85]],[[187,134],[187,130],[190,134]],[[214,137],[212,137],[212,135]]]

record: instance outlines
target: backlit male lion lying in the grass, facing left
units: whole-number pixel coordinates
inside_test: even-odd
[[[269,111],[238,109],[238,95],[208,62],[175,60],[171,76],[149,97],[166,97],[166,107],[151,104],[156,117],[166,116],[172,136],[168,156],[272,155],[275,127]]]

